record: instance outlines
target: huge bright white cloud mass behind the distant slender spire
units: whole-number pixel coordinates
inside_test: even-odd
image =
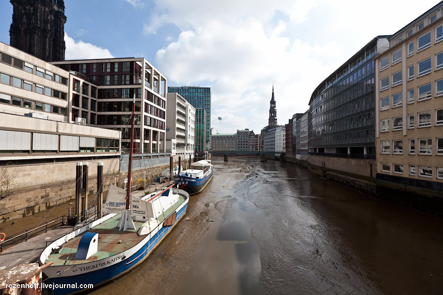
[[[181,29],[156,55],[168,85],[211,87],[213,127],[258,133],[268,122],[273,82],[278,123],[285,124],[308,109],[315,88],[356,51],[434,5],[377,1],[388,11],[400,9],[399,17],[374,21],[380,5],[350,0],[156,0],[144,32],[165,24]]]

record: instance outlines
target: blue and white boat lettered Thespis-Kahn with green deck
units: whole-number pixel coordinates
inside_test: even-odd
[[[133,216],[133,229],[120,231],[122,214],[110,213],[45,248],[39,263],[53,262],[43,269],[43,280],[57,286],[54,295],[91,292],[85,284],[99,288],[140,265],[185,215],[189,194],[170,186],[132,199],[132,207],[148,204],[148,216]]]

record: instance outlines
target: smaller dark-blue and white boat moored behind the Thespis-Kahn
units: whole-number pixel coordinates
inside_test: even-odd
[[[212,179],[214,166],[211,160],[200,160],[190,165],[190,169],[180,171],[174,176],[176,187],[187,191],[190,195],[201,192]]]

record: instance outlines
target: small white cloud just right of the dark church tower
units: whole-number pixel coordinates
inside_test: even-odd
[[[64,59],[109,59],[114,56],[107,49],[95,46],[91,43],[85,43],[82,40],[75,41],[64,33],[64,42],[66,43],[66,51]]]

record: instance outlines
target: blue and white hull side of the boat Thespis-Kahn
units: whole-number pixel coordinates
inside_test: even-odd
[[[177,212],[177,217],[173,225],[168,227],[161,227],[158,232],[151,238],[143,239],[140,243],[122,252],[117,257],[109,257],[107,259],[96,261],[94,265],[89,264],[89,266],[74,265],[69,266],[49,266],[43,270],[43,274],[47,277],[44,278],[44,282],[47,284],[52,284],[56,286],[58,284],[59,288],[54,288],[52,293],[54,295],[67,295],[67,294],[83,294],[89,293],[91,289],[85,289],[80,286],[80,284],[93,284],[94,289],[98,289],[112,281],[115,281],[119,277],[124,276],[128,272],[132,271],[135,267],[139,266],[145,259],[147,259],[151,253],[157,248],[161,241],[172,231],[175,225],[183,218],[188,207],[188,200],[186,204],[180,208]],[[142,244],[142,245],[140,245]],[[125,257],[127,253],[134,252],[130,251],[133,248],[136,249],[135,253]],[[110,261],[120,260],[118,263]],[[108,266],[110,264],[110,266]],[[69,274],[64,275],[66,268],[74,268]],[[63,272],[58,276],[58,272]],[[79,274],[77,274],[80,272]]]

